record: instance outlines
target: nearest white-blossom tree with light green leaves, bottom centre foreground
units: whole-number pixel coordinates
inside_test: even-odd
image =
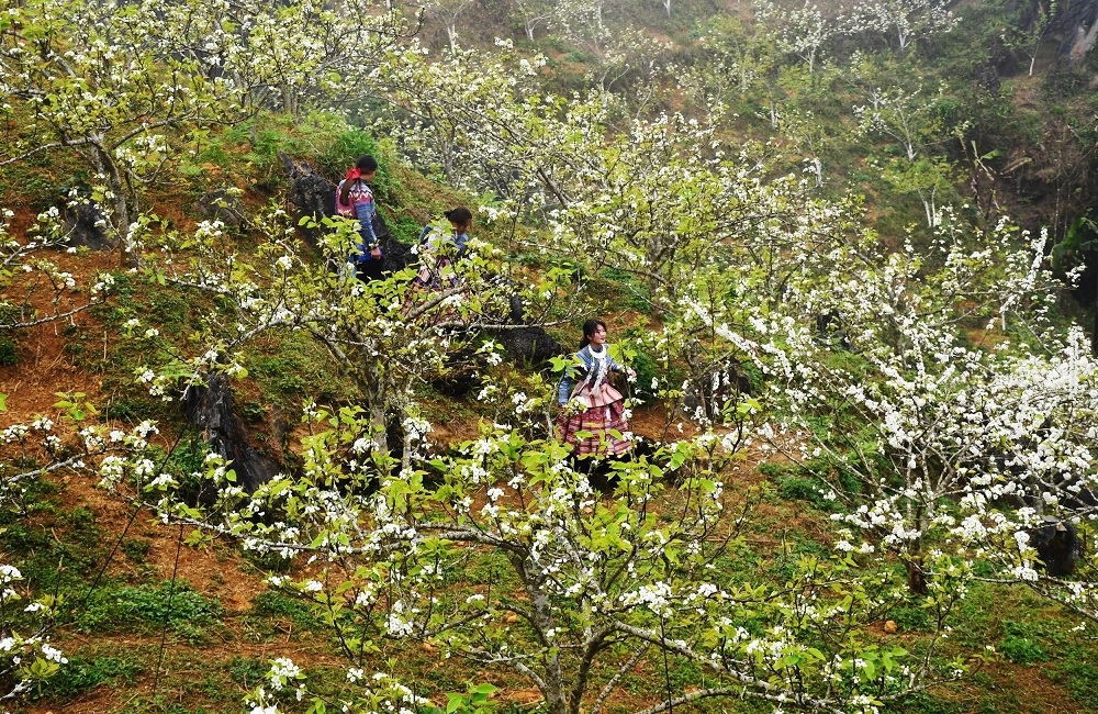
[[[551,400],[515,393],[501,401],[523,422]],[[792,579],[770,584],[717,580],[715,564],[735,557],[750,501],[725,497],[714,469],[735,449],[724,451],[712,433],[669,444],[656,460],[617,465],[620,484],[601,499],[568,467],[560,444],[485,425],[450,456],[417,460],[369,495],[370,475],[346,456],[346,445],[369,433],[368,421],[323,408],[306,419],[313,431],[303,440],[303,472],[261,487],[243,510],[245,494],[216,459],[206,478],[222,493],[217,506],[198,514],[180,505],[170,478],[147,482],[144,498],[165,518],[211,536],[309,556],[309,576],[269,581],[327,613],[348,680],[362,685],[339,701],[315,694],[326,706],[354,706],[390,685],[390,696],[408,701],[388,674],[367,674],[383,640],[426,643],[482,671],[509,670],[561,714],[601,710],[653,656],[707,672],[703,689],[676,691],[669,681],[660,703],[642,710],[653,714],[728,696],[867,713],[932,676],[935,643],[912,658],[864,629],[903,583],[863,580],[853,560],[797,558],[788,562]],[[685,470],[677,495],[662,484],[665,468]],[[111,484],[132,491],[125,479]],[[951,606],[956,593],[939,604]],[[292,661],[276,661],[274,689],[310,695],[299,674]]]

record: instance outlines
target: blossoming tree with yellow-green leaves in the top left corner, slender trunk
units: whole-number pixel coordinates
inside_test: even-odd
[[[372,4],[312,0],[20,3],[0,19],[0,91],[18,135],[0,166],[75,153],[109,232],[135,259],[145,191],[166,181],[189,130],[271,103],[296,113],[354,86],[405,30]]]

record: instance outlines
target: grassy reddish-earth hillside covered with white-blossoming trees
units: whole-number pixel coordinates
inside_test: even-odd
[[[1093,204],[1095,60],[1057,66],[1051,30],[1024,45],[1018,4],[956,3],[960,25],[904,47],[843,25],[807,49],[799,3],[560,5],[534,40],[517,8],[470,4],[468,55],[436,13],[426,55],[370,25],[392,44],[315,65],[287,16],[293,60],[267,63],[284,75],[232,101],[206,86],[221,65],[137,53],[209,115],[112,104],[105,75],[20,75],[51,89],[12,85],[0,154],[5,705],[1095,711],[1098,542],[1068,503],[1095,488],[1071,331],[1093,305],[1053,275],[1094,254],[1071,226]],[[79,29],[52,22],[5,20],[4,58],[61,36],[76,66]],[[234,81],[270,69],[232,56]],[[333,81],[349,57],[377,70],[363,93]],[[54,111],[100,91],[111,111]],[[88,153],[99,134],[124,138]],[[354,228],[304,241],[279,152],[332,181],[376,155],[405,244],[470,205],[462,281],[328,270]],[[238,226],[198,210],[225,189]],[[81,205],[115,247],[63,236],[52,212]],[[618,386],[643,438],[607,488],[553,438],[567,361],[500,347],[516,299],[569,350],[604,319],[638,372]],[[280,468],[253,493],[186,420],[211,375]],[[1031,409],[1046,384],[1071,398]],[[1033,498],[1082,538],[1074,573],[1026,549]]]

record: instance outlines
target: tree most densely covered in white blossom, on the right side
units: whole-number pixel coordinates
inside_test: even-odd
[[[1044,476],[1028,469],[1020,477],[995,466],[1005,454],[1028,458],[1021,454],[1032,447],[1033,419],[1024,400],[1035,392],[1017,376],[1034,372],[1005,345],[967,346],[959,335],[965,325],[1016,324],[1037,330],[1032,338],[1051,339],[1041,327],[1050,281],[1041,268],[1043,236],[1005,252],[1006,224],[978,249],[963,247],[955,231],[946,222],[929,254],[907,246],[881,263],[837,271],[817,290],[800,286],[807,309],[841,323],[858,361],[837,367],[827,348],[804,339],[791,357],[799,375],[787,388],[789,404],[804,414],[809,442],[798,448],[862,484],[867,498],[850,497],[850,510],[836,517],[879,538],[870,546],[897,553],[914,592],[926,592],[932,580],[934,566],[925,557],[950,561],[943,534],[954,523],[954,504],[977,484],[1009,481],[1012,489],[1030,478],[1063,490],[1083,478],[1057,473],[1052,464]],[[830,427],[810,429],[810,416],[826,416]],[[928,554],[927,543],[937,549]]]

